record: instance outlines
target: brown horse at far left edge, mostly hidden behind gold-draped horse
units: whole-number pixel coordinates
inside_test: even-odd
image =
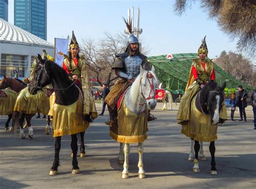
[[[11,88],[11,90],[14,90],[15,92],[19,93],[22,89],[24,89],[26,86],[14,79],[14,78],[9,78],[6,75],[4,75],[2,81],[0,81],[0,89],[5,89],[5,88]],[[11,121],[12,114],[8,115],[8,120],[5,122],[5,130],[9,129],[9,123]]]

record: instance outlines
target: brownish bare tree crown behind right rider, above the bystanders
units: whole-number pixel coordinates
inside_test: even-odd
[[[241,54],[223,51],[214,62],[235,79],[248,85],[256,86],[256,74],[253,63],[242,57]]]

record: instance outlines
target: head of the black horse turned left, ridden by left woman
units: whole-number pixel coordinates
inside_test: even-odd
[[[33,78],[29,85],[29,93],[36,94],[38,90],[51,83],[50,74],[50,60],[42,59],[38,54],[38,62],[34,68]]]

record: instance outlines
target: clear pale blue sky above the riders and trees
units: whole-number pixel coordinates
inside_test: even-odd
[[[48,0],[48,41],[71,36],[98,40],[104,32],[124,32],[127,9],[140,8],[140,38],[150,48],[151,55],[197,53],[201,40],[206,36],[208,57],[215,58],[225,51],[236,51],[236,40],[231,40],[220,30],[216,20],[208,19],[198,2],[182,16],[173,11],[174,0],[169,1],[87,1]],[[14,24],[14,0],[9,0],[9,22]],[[136,25],[136,23],[135,23]],[[143,44],[142,44],[143,45]]]

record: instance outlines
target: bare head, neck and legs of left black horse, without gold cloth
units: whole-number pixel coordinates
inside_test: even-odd
[[[29,86],[29,92],[36,94],[37,91],[50,83],[55,89],[56,100],[55,103],[69,106],[75,103],[79,97],[79,89],[73,85],[73,82],[69,79],[68,74],[64,69],[60,68],[54,62],[42,59],[41,55],[38,54],[38,60],[33,75],[33,79]],[[72,174],[79,173],[79,167],[77,162],[77,134],[71,135],[71,149],[72,149]],[[85,155],[84,147],[84,131],[80,132],[80,156]],[[61,136],[55,137],[55,158],[53,165],[50,170],[50,175],[56,175],[59,166],[59,151],[60,151]],[[83,157],[83,156],[81,156]]]

